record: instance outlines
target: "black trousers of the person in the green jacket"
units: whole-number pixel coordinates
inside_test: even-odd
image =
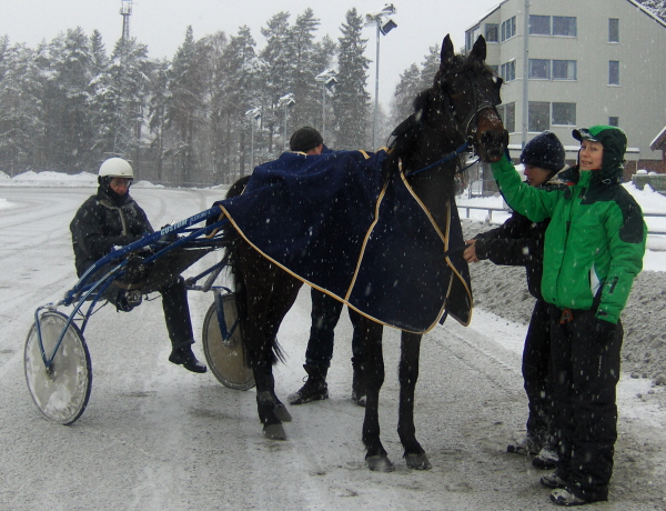
[[[554,419],[561,475],[585,500],[606,500],[617,439],[615,387],[619,379],[622,323],[602,337],[594,311],[562,311],[549,305]]]

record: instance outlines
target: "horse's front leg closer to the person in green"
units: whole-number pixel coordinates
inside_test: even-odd
[[[414,391],[418,380],[421,337],[407,332],[403,332],[401,335],[397,434],[405,450],[404,458],[407,467],[416,470],[430,470],[432,465],[427,455],[425,455],[425,451],[416,440],[416,428],[414,427]]]

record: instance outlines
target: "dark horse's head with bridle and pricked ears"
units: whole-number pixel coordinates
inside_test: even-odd
[[[485,64],[486,43],[480,36],[466,57],[456,56],[451,38],[442,43],[434,87],[457,124],[460,138],[474,146],[483,161],[497,161],[508,144],[508,133],[497,113],[502,79]]]

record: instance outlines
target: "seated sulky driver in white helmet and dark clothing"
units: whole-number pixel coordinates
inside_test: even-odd
[[[70,223],[79,277],[113,247],[130,244],[154,232],[145,212],[129,193],[133,177],[132,167],[122,158],[111,158],[100,167],[97,194],[83,202]],[[194,335],[182,277],[160,287],[159,291],[172,345],[169,361],[192,372],[205,372],[205,364],[192,352]],[[141,301],[140,294],[132,297],[114,284],[108,288],[104,298],[123,312]]]

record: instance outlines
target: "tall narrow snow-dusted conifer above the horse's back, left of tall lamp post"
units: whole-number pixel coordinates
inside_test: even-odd
[[[361,37],[363,20],[352,9],[340,29],[337,56],[337,89],[333,101],[335,112],[335,149],[360,149],[371,146],[369,59],[363,54],[367,39]]]

